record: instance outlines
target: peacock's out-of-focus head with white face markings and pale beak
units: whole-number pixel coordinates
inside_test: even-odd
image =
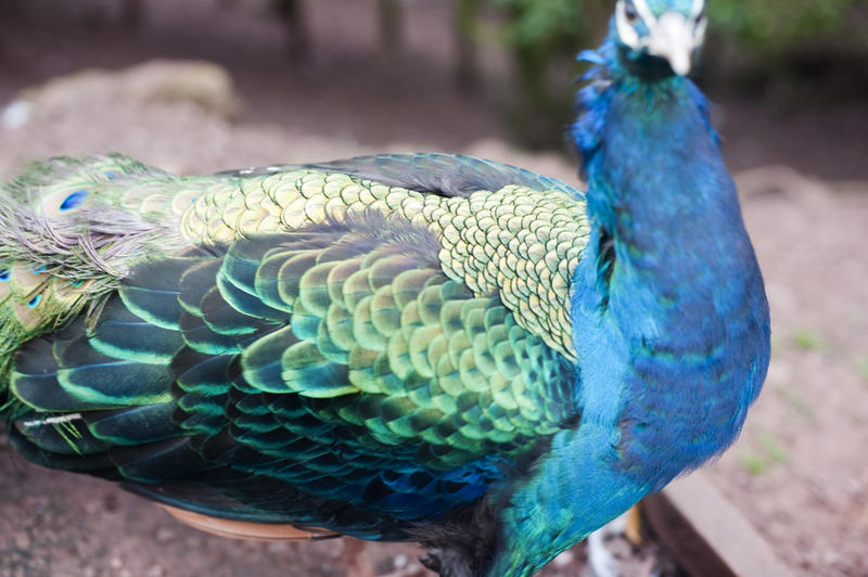
[[[705,0],[617,0],[613,33],[630,73],[685,76],[705,39]]]

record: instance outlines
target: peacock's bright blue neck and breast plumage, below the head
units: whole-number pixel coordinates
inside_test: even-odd
[[[583,57],[595,67],[573,130],[592,221],[571,296],[582,421],[503,515],[549,555],[726,449],[769,357],[763,280],[704,98],[682,77],[634,76],[611,39]],[[490,575],[539,567],[518,557]]]

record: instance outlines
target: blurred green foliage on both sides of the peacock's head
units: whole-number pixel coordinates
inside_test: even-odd
[[[525,145],[558,145],[569,123],[571,103],[559,99],[571,92],[557,84],[563,68],[583,48],[595,46],[605,29],[611,1],[601,0],[463,0],[459,7],[480,9],[482,3],[501,16],[499,38],[512,55],[519,97],[512,126]],[[464,4],[471,2],[474,8]],[[787,74],[786,61],[800,52],[868,54],[868,26],[854,17],[868,0],[709,0],[711,29],[717,33],[715,50],[735,68],[763,72],[769,77]],[[460,18],[464,34],[472,27],[468,14]],[[863,18],[864,20],[864,18]],[[719,39],[733,50],[718,50]],[[478,40],[478,39],[477,39]],[[814,47],[814,48],[812,48]],[[844,50],[842,50],[842,48]],[[468,68],[462,64],[461,70]],[[719,69],[726,69],[720,67]],[[462,78],[472,77],[463,72]]]

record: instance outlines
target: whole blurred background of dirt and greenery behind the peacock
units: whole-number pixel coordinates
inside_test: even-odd
[[[709,2],[694,76],[742,194],[774,336],[742,437],[703,475],[793,574],[865,576],[868,1]],[[58,154],[117,151],[195,174],[429,150],[577,182],[564,139],[574,55],[599,42],[612,7],[0,0],[0,179]],[[226,541],[0,451],[0,574],[358,574],[342,541]],[[378,575],[425,575],[411,546],[361,553]],[[665,552],[646,553],[624,574],[677,574]],[[584,575],[584,555],[546,575]]]

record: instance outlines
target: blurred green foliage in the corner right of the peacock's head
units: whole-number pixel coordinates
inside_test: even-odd
[[[714,29],[745,48],[782,53],[833,35],[845,24],[851,9],[864,3],[865,0],[711,0],[709,17]],[[840,35],[837,39],[847,40]],[[861,41],[867,40],[863,33]]]

